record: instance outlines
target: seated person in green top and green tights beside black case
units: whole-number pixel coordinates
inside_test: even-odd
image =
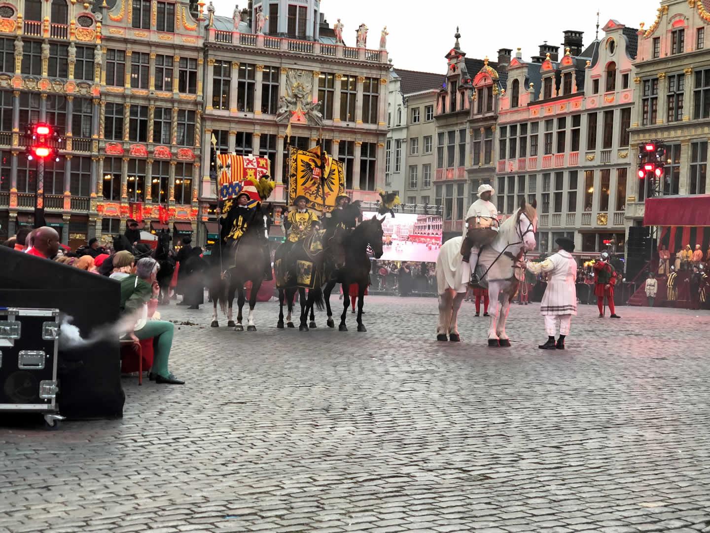
[[[168,357],[173,346],[173,323],[148,320],[148,301],[157,299],[160,294],[160,287],[155,281],[159,268],[155,259],[144,257],[136,264],[136,274],[121,280],[121,313],[138,317],[133,331],[129,333],[131,339],[138,342],[153,338],[155,355],[148,377],[155,379],[156,383],[182,385],[185,382],[176,379],[168,370]]]

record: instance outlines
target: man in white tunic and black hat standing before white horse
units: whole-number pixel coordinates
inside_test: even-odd
[[[545,317],[547,343],[538,346],[541,350],[564,350],[564,338],[569,335],[572,315],[577,314],[577,262],[570,252],[574,252],[574,241],[561,237],[555,241],[559,251],[541,263],[528,261],[525,266],[533,274],[547,272],[547,289],[542,296],[540,313]],[[559,326],[558,326],[559,324]],[[555,343],[555,330],[559,327],[559,339]]]

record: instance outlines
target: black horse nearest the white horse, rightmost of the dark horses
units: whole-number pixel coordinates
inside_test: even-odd
[[[367,331],[362,323],[362,308],[365,302],[365,289],[370,282],[370,258],[368,257],[368,249],[372,250],[375,259],[382,257],[382,220],[376,216],[358,225],[344,240],[345,264],[340,268],[326,268],[327,284],[323,289],[325,296],[325,306],[328,312],[327,325],[333,328],[333,314],[330,310],[330,293],[335,284],[340,283],[343,287],[344,307],[343,313],[340,316],[340,324],[338,330],[347,331],[345,318],[348,315],[349,305],[349,289],[355,284],[358,286],[358,313],[357,313],[357,330]],[[328,262],[327,262],[328,263]]]

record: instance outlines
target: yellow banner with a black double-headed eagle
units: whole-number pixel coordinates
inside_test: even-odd
[[[321,180],[321,158],[324,158],[324,176]],[[326,153],[320,146],[310,150],[289,147],[289,203],[305,196],[307,207],[320,212],[330,212],[335,199],[345,194],[343,163]]]

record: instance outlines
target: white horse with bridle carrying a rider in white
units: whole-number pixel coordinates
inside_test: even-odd
[[[488,346],[509,347],[506,335],[506,319],[510,301],[525,276],[525,265],[520,262],[523,252],[535,249],[537,231],[537,203],[520,202],[520,209],[513,217],[501,224],[498,236],[490,245],[484,246],[479,256],[477,270],[486,272],[482,281],[488,282],[491,305],[491,327],[488,329]],[[439,325],[437,340],[458,342],[461,340],[457,325],[461,301],[466,296],[471,271],[461,256],[461,241],[454,237],[442,244],[437,257],[437,292],[439,293]],[[475,253],[475,252],[474,252]],[[479,270],[480,271],[480,270]]]

